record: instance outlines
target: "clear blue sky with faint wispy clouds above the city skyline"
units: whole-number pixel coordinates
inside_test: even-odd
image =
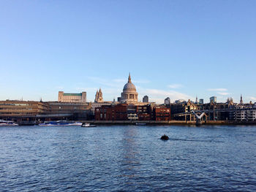
[[[0,1],[0,99],[256,101],[256,1]]]

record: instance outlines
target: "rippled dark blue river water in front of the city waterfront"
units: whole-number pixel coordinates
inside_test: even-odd
[[[0,127],[0,147],[0,191],[256,191],[256,126]]]

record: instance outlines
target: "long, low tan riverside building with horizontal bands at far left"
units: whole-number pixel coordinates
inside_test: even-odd
[[[85,119],[91,115],[91,103],[59,101],[0,101],[0,119],[52,120],[63,118]]]

